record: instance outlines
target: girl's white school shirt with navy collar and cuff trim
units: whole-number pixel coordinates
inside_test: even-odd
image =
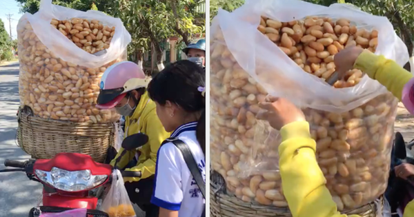
[[[197,122],[186,123],[172,132],[171,137],[179,138],[190,147],[206,183],[206,157],[197,141],[196,127]],[[183,154],[173,143],[166,143],[158,150],[151,203],[178,211],[179,217],[201,216],[206,206],[206,200],[191,175]]]

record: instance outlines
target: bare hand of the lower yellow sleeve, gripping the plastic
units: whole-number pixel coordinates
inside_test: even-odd
[[[263,110],[257,114],[257,119],[268,121],[276,130],[280,130],[288,123],[306,120],[304,112],[287,99],[268,96],[264,103],[259,103],[259,106]]]

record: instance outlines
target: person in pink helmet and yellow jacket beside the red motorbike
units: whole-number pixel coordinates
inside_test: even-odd
[[[153,217],[158,216],[159,211],[159,207],[150,203],[157,152],[162,141],[170,134],[164,130],[157,116],[155,103],[148,96],[146,87],[149,81],[137,64],[130,61],[115,63],[101,77],[97,107],[103,110],[115,107],[119,114],[125,116],[124,138],[139,132],[148,135],[146,145],[128,151],[121,158],[119,156],[124,149],[119,149],[110,165],[115,166],[115,162],[119,161],[117,167],[126,171],[141,172],[141,177],[124,178],[125,187],[131,202],[139,205],[146,212],[146,216]]]

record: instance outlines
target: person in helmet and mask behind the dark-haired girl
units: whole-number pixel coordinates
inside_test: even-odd
[[[202,68],[206,68],[206,39],[198,39],[188,44],[187,48],[183,49],[187,55],[187,59]]]

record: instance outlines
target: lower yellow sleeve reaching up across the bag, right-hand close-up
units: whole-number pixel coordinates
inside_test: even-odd
[[[309,131],[306,121],[289,123],[280,130],[279,169],[292,216],[346,217],[337,211],[337,205],[325,186],[324,174],[315,157],[316,143]]]

